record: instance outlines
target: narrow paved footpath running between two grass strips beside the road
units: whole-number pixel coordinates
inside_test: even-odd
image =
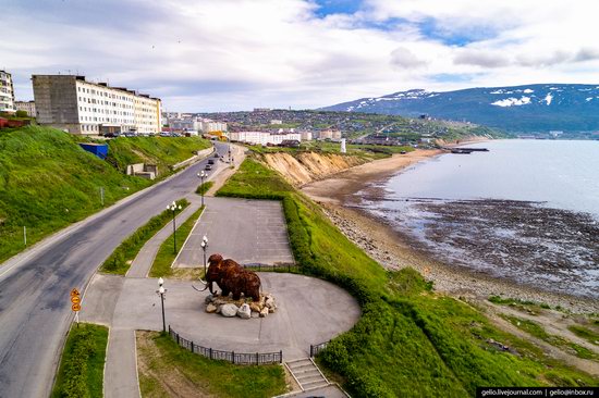
[[[176,227],[179,228],[193,213],[199,209],[200,204],[197,201],[190,203],[179,215],[176,215],[175,222]],[[162,229],[160,229],[156,235],[154,235],[139,250],[135,260],[131,264],[126,276],[127,277],[146,277],[151,269],[154,259],[160,249],[160,246],[167,240],[169,236],[173,233],[172,221],[169,222]],[[178,234],[178,245],[183,245],[185,237]]]

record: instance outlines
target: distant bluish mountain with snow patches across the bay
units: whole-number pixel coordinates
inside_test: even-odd
[[[599,85],[541,84],[444,92],[414,89],[321,110],[413,117],[427,114],[509,132],[589,132],[599,130]]]

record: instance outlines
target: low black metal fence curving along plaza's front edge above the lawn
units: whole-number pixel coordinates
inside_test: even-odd
[[[188,340],[184,337],[181,337],[179,333],[172,329],[169,325],[169,335],[171,338],[176,341],[176,344],[185,348],[188,351],[197,353],[199,356],[220,360],[228,361],[235,364],[271,364],[271,363],[282,363],[283,362],[283,351],[279,352],[235,352],[235,351],[222,351],[213,348],[207,348],[198,346],[192,340]]]

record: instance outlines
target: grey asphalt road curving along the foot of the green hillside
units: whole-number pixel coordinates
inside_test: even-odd
[[[217,142],[224,154],[228,146]],[[48,397],[73,319],[70,291],[131,233],[195,191],[207,160],[0,265],[0,397]]]

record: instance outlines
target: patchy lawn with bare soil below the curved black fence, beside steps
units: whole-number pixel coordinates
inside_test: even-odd
[[[259,398],[285,391],[281,365],[234,365],[210,360],[156,332],[137,332],[137,360],[145,398],[173,395]]]

